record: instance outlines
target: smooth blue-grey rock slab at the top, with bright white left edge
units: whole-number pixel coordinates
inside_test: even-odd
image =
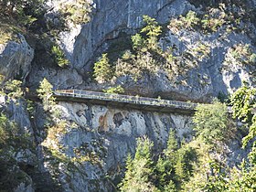
[[[95,51],[104,49],[107,41],[118,37],[121,32],[133,34],[142,27],[143,15],[155,17],[164,24],[171,16],[179,16],[195,8],[185,0],[97,0],[93,7],[90,23],[82,27],[75,41],[69,36],[61,36],[63,47],[69,50],[68,55],[74,67],[82,69],[80,72],[89,69],[88,62],[94,57]],[[73,50],[70,49],[71,45]]]

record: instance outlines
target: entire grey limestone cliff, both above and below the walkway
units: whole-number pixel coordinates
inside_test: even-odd
[[[229,95],[243,80],[251,85],[255,83],[255,60],[245,59],[249,52],[256,52],[253,16],[251,20],[241,19],[239,29],[229,30],[229,21],[225,21],[227,23],[217,30],[206,33],[201,28],[171,27],[170,21],[175,22],[189,11],[197,15],[208,13],[208,1],[89,2],[90,22],[71,25],[69,30],[60,31],[57,39],[50,39],[65,52],[70,61],[68,67],[60,68],[45,57],[50,55],[44,47],[48,44],[45,41],[29,46],[27,42],[31,37],[27,36],[26,40],[18,35],[16,40],[0,45],[0,73],[5,76],[4,81],[22,80],[33,91],[44,78],[54,89],[101,91],[122,85],[127,94],[179,101],[211,101],[219,94]],[[224,1],[211,2],[219,5]],[[50,13],[45,18],[53,19],[54,24],[59,20],[51,16],[58,12],[58,6],[58,1],[48,1]],[[248,0],[244,6],[255,10],[256,2]],[[222,8],[233,9],[237,14],[247,10],[232,3]],[[219,16],[219,10],[211,10],[211,14]],[[96,83],[91,76],[94,61],[123,37],[130,39],[138,32],[144,25],[143,15],[156,18],[165,28],[158,43],[163,51],[174,48],[174,56],[182,61],[182,65],[175,65],[172,71],[175,76],[170,77],[165,69],[157,68],[155,73],[144,72],[138,80],[133,80],[131,74],[124,74],[106,83]],[[205,47],[200,52],[201,45]],[[242,52],[247,45],[250,45],[248,52]],[[32,101],[31,109],[31,101],[25,99],[12,100],[7,96],[0,99],[1,113],[16,122],[17,135],[28,135],[26,138],[31,142],[27,148],[13,147],[8,155],[15,162],[8,170],[16,170],[21,175],[15,191],[114,191],[123,176],[127,154],[134,154],[136,138],[147,135],[154,142],[155,155],[158,155],[166,146],[170,130],[176,130],[179,141],[188,142],[193,135],[191,116],[176,112],[146,112],[59,101],[53,110],[58,113],[57,118],[50,116],[39,101]],[[223,147],[227,149],[229,165],[240,162],[245,154],[237,141]]]

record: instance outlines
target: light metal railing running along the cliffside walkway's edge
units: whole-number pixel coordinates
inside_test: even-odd
[[[197,106],[196,103],[184,102],[184,101],[169,101],[162,99],[146,98],[139,96],[130,96],[122,94],[112,94],[97,91],[81,91],[81,90],[57,90],[54,91],[55,96],[64,97],[74,97],[74,98],[84,98],[91,100],[101,100],[101,101],[117,101],[117,102],[127,102],[133,104],[142,104],[149,106],[162,106],[171,107],[178,109],[194,110]]]

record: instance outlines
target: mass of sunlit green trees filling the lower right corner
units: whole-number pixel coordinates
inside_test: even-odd
[[[244,86],[231,98],[233,116],[245,122],[241,129],[250,127],[248,135],[243,138],[243,147],[256,136],[255,114],[252,113],[255,107],[254,91]],[[251,153],[240,165],[228,166],[226,162],[224,146],[240,132],[233,121],[223,103],[215,101],[213,104],[198,105],[193,119],[196,134],[192,141],[178,143],[175,133],[170,131],[167,147],[157,155],[157,161],[150,151],[153,144],[138,139],[136,154],[144,155],[128,156],[121,191],[255,190],[255,141],[250,146]],[[138,168],[143,167],[140,162],[150,162],[144,164],[150,171],[142,173],[144,169]]]

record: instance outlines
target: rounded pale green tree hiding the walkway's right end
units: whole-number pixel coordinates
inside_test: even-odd
[[[227,109],[227,106],[219,101],[197,106],[197,112],[193,117],[195,130],[208,144],[216,144],[232,138],[234,125],[229,119]]]

